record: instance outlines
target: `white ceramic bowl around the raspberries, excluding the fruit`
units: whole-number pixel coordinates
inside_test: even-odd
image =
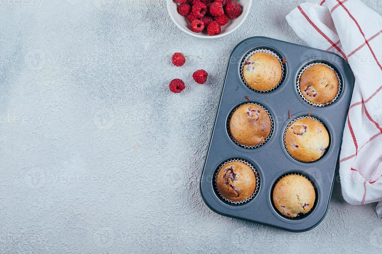
[[[247,18],[249,10],[251,9],[252,0],[233,0],[233,1],[242,6],[243,12],[236,19],[229,19],[228,24],[221,26],[222,31],[220,32],[220,34],[212,35],[212,36],[208,35],[206,29],[204,29],[200,33],[195,33],[191,31],[190,22],[188,22],[186,16],[182,16],[178,13],[178,4],[175,3],[173,0],[167,0],[167,10],[172,21],[183,32],[195,37],[199,37],[199,38],[214,39],[214,38],[223,37],[235,31],[236,29],[238,29],[238,27],[241,26],[241,24],[243,24],[244,20]]]

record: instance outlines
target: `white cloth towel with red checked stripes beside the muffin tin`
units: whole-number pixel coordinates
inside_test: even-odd
[[[340,155],[342,195],[350,204],[382,201],[382,17],[359,0],[316,0],[286,20],[309,46],[349,62],[355,86]]]

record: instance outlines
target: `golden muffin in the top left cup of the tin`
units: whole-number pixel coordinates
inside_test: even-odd
[[[259,91],[268,91],[280,82],[280,61],[268,53],[259,52],[250,56],[243,66],[243,77],[249,86]]]

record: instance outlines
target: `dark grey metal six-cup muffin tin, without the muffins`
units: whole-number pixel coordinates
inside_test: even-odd
[[[244,58],[257,49],[270,50],[286,59],[283,79],[277,88],[258,92],[245,85],[240,68]],[[300,71],[312,63],[332,67],[341,80],[341,91],[331,104],[313,107],[311,117],[319,120],[329,133],[329,147],[317,161],[305,163],[291,157],[284,145],[284,132],[296,118],[308,116],[311,104],[304,101],[296,89]],[[345,128],[346,114],[353,93],[354,76],[348,63],[337,54],[266,37],[251,37],[240,42],[232,51],[220,95],[214,127],[200,179],[204,202],[218,214],[256,222],[291,232],[304,232],[316,227],[329,208],[338,157]],[[250,102],[264,107],[273,119],[272,134],[257,147],[237,144],[229,134],[227,124],[233,110]],[[288,117],[288,110],[291,118]],[[229,160],[244,160],[256,169],[260,179],[256,194],[243,203],[231,203],[217,192],[215,175]],[[277,181],[287,174],[300,174],[312,182],[316,202],[307,214],[285,217],[272,202]]]

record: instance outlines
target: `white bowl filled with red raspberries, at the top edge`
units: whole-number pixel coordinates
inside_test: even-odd
[[[252,0],[167,0],[170,18],[183,32],[219,38],[243,24]]]

